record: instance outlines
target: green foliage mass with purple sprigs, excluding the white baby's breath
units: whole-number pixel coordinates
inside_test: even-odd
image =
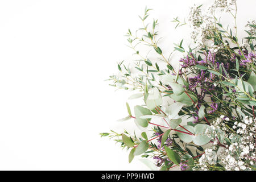
[[[199,10],[200,7],[197,6],[196,9]],[[200,47],[193,47],[191,44],[188,49],[184,47],[183,40],[185,39],[174,44],[172,52],[186,52],[183,58],[188,64],[175,70],[172,67],[174,65],[171,61],[172,52],[170,55],[167,51],[163,52],[162,46],[159,45],[161,38],[156,30],[158,20],[154,19],[148,23],[150,10],[146,7],[144,15],[139,16],[142,20],[142,27],[137,31],[128,29],[126,34],[129,43],[127,46],[133,49],[133,55],[136,57],[134,64],[121,61],[117,66],[118,75],[109,78],[113,81],[111,86],[137,91],[129,97],[130,100],[144,101],[144,104],[134,107],[134,116],[129,104],[126,103],[129,116],[119,119],[119,121],[126,121],[135,118],[135,124],[143,130],[142,138],[137,138],[135,133],[132,136],[127,131],[124,132],[125,134],[117,134],[114,131],[113,133],[101,133],[101,137],[117,137],[115,141],[120,143],[122,148],[128,150],[132,147],[129,163],[135,155],[142,155],[142,158],[148,159],[152,156],[159,156],[164,160],[163,163],[157,164],[162,171],[167,171],[168,168],[180,163],[188,165],[186,170],[194,170],[198,167],[198,158],[208,146],[205,144],[209,142],[216,144],[217,141],[218,150],[234,142],[240,143],[239,139],[235,139],[239,138],[239,135],[236,134],[237,127],[233,127],[234,122],[240,123],[246,117],[255,117],[255,57],[248,56],[247,52],[255,54],[256,26],[246,25],[251,29],[245,30],[247,37],[243,38],[243,43],[247,46],[242,46],[237,31],[229,26],[226,27],[214,16],[213,27],[203,32],[204,39],[209,44],[203,43]],[[203,17],[201,18],[202,20],[195,22],[195,27],[201,26]],[[176,23],[175,28],[185,24],[181,23],[178,18],[175,18],[173,22]],[[137,47],[139,44],[148,46],[150,50],[148,52],[139,50]],[[210,125],[213,125],[214,121],[222,115],[225,115],[227,120],[224,119],[225,121],[219,124],[220,128],[216,129],[217,135],[209,134],[212,132]],[[181,117],[187,125],[182,126]],[[195,118],[197,122],[186,121],[191,118]],[[163,122],[159,123],[160,120]],[[152,136],[146,133],[148,126],[151,126],[154,131]],[[232,139],[226,137],[231,134],[235,137]],[[168,145],[171,146],[164,146],[164,149],[158,148],[158,141],[147,142],[148,138],[160,139],[161,147],[167,143],[168,138]],[[172,139],[171,144],[170,139]],[[191,147],[196,151],[192,152]],[[214,156],[217,156],[216,151],[213,151]],[[167,157],[172,161],[171,163],[166,160]],[[148,159],[143,159],[142,162],[155,170],[155,164]],[[242,161],[247,162],[245,159]],[[225,169],[219,162],[219,159],[214,159],[209,170]],[[253,166],[251,168],[253,169]]]

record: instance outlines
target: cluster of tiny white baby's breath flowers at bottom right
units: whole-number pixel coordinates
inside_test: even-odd
[[[226,127],[229,118],[221,115],[210,126],[205,133],[212,139],[221,135],[229,141],[229,146],[213,146],[207,148],[199,159],[199,165],[195,169],[208,170],[210,164],[220,163],[227,171],[251,170],[249,166],[256,164],[256,124],[253,118],[246,116],[242,122],[234,122],[233,130],[230,132]],[[217,150],[218,148],[218,150]],[[218,161],[217,161],[218,159]]]

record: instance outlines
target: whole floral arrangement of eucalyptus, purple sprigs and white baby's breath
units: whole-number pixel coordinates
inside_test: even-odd
[[[184,54],[178,70],[159,47],[158,20],[146,23],[150,9],[139,16],[143,27],[127,32],[129,47],[139,59],[118,63],[112,86],[137,93],[142,99],[128,116],[143,132],[101,133],[127,148],[129,162],[141,155],[151,169],[246,170],[256,169],[256,67],[255,20],[245,22],[246,37],[237,35],[236,0],[215,0],[207,11],[191,7],[188,25],[193,46],[183,40],[175,50]],[[226,12],[234,27],[220,23],[217,13]],[[187,26],[178,18],[176,27]],[[150,46],[158,56],[143,55],[137,45]],[[161,123],[156,123],[160,121]],[[146,130],[150,129],[150,137]],[[147,130],[148,131],[148,130]]]

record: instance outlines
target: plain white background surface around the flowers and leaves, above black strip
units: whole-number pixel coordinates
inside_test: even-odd
[[[0,169],[147,170],[100,138],[110,129],[135,128],[131,120],[116,122],[126,117],[131,93],[115,92],[104,80],[117,73],[117,61],[131,58],[123,35],[141,27],[146,5],[159,19],[168,55],[173,43],[189,40],[172,18],[182,20],[193,3],[208,2],[0,1]],[[255,6],[238,1],[238,27],[255,19]]]

